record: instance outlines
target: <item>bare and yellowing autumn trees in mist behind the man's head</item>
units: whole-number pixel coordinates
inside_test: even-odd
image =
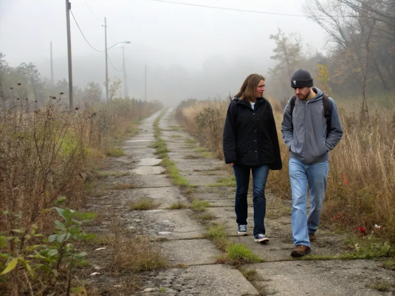
[[[316,85],[329,93],[394,92],[394,0],[307,0],[304,10],[326,32],[328,53],[314,51],[314,44],[305,45],[297,33],[278,29],[270,36],[276,43],[269,84],[275,96],[291,95],[289,77],[298,68],[309,69]]]

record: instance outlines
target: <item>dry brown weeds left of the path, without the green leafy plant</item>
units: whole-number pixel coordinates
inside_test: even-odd
[[[57,216],[49,209],[58,204],[59,197],[65,200],[62,207],[66,209],[78,210],[85,203],[86,190],[93,187],[87,183],[92,181],[88,172],[100,167],[106,154],[121,154],[117,147],[125,137],[136,133],[133,121],[139,118],[136,100],[117,99],[70,111],[62,106],[61,98],[51,98],[45,108],[39,109],[26,98],[22,86],[19,95],[22,100],[10,104],[14,107],[0,111],[0,245],[2,255],[6,255],[1,256],[0,271],[12,262],[10,258],[24,256],[16,240],[3,238],[14,235],[12,229],[22,234],[26,229],[34,230],[44,237],[52,234]],[[160,105],[148,103],[141,115],[158,108]],[[25,240],[24,254],[29,248],[34,254],[37,247],[32,246],[40,242],[40,238]],[[37,259],[29,261],[37,266]],[[37,276],[30,273],[28,265],[18,265],[0,279],[0,291],[10,296],[65,294],[68,278],[74,278],[74,274],[70,275],[59,261],[58,276],[51,284],[41,285],[40,279],[47,281],[51,273],[51,269],[49,273],[42,270],[52,263],[40,263],[34,270]],[[74,284],[73,280],[73,289]]]

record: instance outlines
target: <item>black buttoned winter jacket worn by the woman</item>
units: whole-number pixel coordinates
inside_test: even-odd
[[[254,110],[249,102],[233,98],[222,139],[226,163],[266,164],[271,170],[282,169],[275,118],[265,98],[256,100]]]

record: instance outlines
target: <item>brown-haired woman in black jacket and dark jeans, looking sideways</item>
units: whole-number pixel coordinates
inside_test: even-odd
[[[265,186],[269,169],[282,168],[275,118],[269,101],[263,98],[265,78],[250,74],[233,98],[226,114],[223,149],[225,162],[236,177],[236,222],[238,234],[247,234],[247,192],[252,170],[254,237],[268,242],[264,225]]]

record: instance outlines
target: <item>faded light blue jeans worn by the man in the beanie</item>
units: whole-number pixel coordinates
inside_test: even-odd
[[[289,159],[289,178],[292,191],[292,237],[294,245],[310,247],[309,233],[316,232],[325,197],[329,162],[304,164]],[[307,184],[310,191],[310,212],[306,217]]]

